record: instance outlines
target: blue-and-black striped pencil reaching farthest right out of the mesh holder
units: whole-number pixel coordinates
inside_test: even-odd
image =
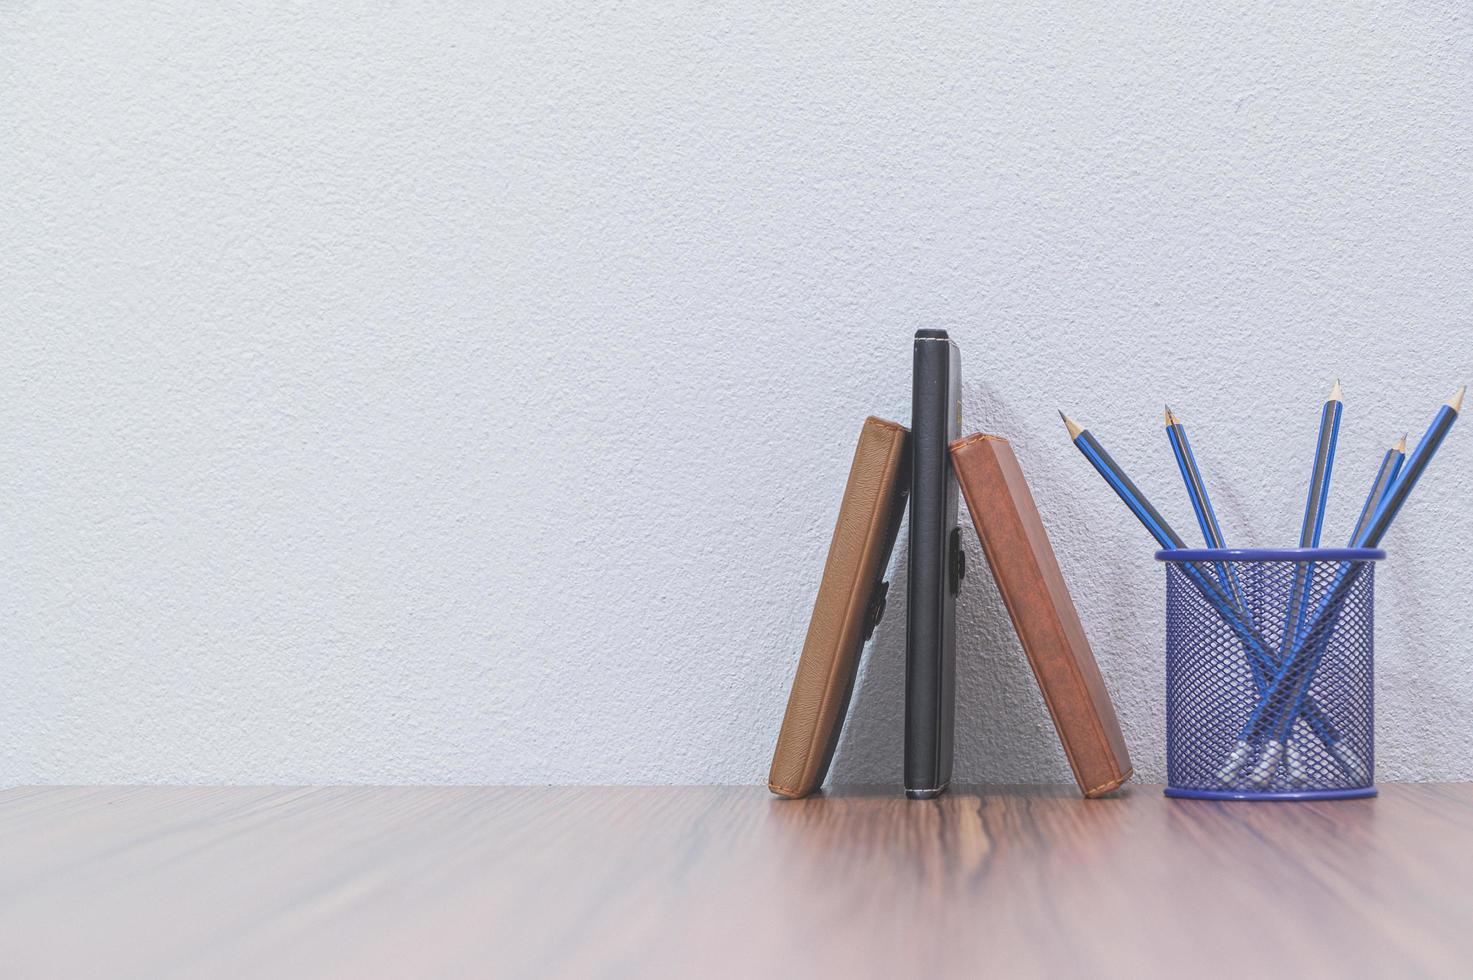
[[[1411,451],[1411,455],[1408,455],[1402,464],[1395,483],[1392,483],[1391,489],[1388,489],[1382,497],[1380,503],[1376,505],[1376,513],[1361,529],[1360,535],[1352,539],[1351,547],[1374,548],[1380,544],[1382,538],[1391,529],[1392,522],[1396,519],[1396,514],[1407,503],[1407,498],[1411,495],[1417,480],[1421,479],[1427,464],[1432,463],[1432,457],[1436,455],[1438,448],[1448,435],[1448,430],[1452,429],[1452,423],[1457,421],[1458,413],[1463,410],[1463,396],[1466,392],[1466,386],[1460,388],[1452,398],[1449,398],[1446,404],[1438,410],[1438,414],[1433,417],[1432,424],[1427,426],[1427,430],[1423,433],[1417,448]],[[1354,588],[1355,582],[1360,579],[1363,567],[1365,567],[1364,563],[1340,563],[1333,584],[1324,598],[1320,600],[1318,609],[1315,609],[1314,616],[1309,617],[1309,626],[1304,631],[1304,635],[1315,638],[1315,643],[1308,644],[1307,648],[1296,647],[1290,651],[1290,656],[1284,657],[1279,672],[1274,675],[1268,694],[1259,699],[1258,709],[1255,709],[1254,715],[1243,727],[1240,740],[1251,741],[1264,732],[1265,718],[1270,713],[1268,706],[1287,700],[1280,697],[1282,694],[1292,693],[1290,703],[1293,706],[1302,703],[1305,693],[1314,681],[1314,673],[1320,666],[1320,660],[1324,657],[1326,648],[1329,648],[1335,619],[1339,616],[1340,607],[1345,604],[1345,598],[1349,595],[1351,588]],[[1277,740],[1270,740],[1264,746],[1264,753],[1252,774],[1254,781],[1262,783],[1267,781],[1267,777],[1273,775],[1274,768],[1277,768],[1277,755],[1282,753],[1282,750],[1283,746]],[[1368,777],[1364,771],[1361,775]]]

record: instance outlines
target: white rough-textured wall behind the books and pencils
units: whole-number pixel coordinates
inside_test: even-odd
[[[1055,408],[1186,529],[1170,401],[1271,545],[1333,377],[1332,536],[1473,379],[1463,4],[222,6],[0,7],[0,783],[760,781],[918,326],[1161,778]],[[1473,778],[1470,463],[1388,542],[1382,778]],[[985,575],[960,634],[959,778],[1066,781]]]

